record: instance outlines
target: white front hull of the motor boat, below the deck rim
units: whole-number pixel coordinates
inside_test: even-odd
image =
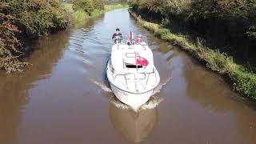
[[[153,90],[150,90],[142,94],[132,94],[130,92],[118,89],[118,87],[114,86],[112,83],[110,83],[110,86],[114,95],[121,102],[128,106],[132,106],[134,109],[137,109],[139,106],[145,104],[153,93]]]

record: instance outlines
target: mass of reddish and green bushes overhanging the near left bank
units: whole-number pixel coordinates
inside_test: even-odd
[[[0,69],[21,70],[25,38],[37,38],[68,25],[66,11],[58,0],[2,0],[0,3]]]

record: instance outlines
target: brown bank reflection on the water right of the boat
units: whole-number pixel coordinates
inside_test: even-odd
[[[246,102],[234,94],[224,79],[218,78],[217,74],[203,71],[201,66],[187,65],[183,76],[186,78],[186,91],[189,98],[211,113],[234,113],[241,143],[250,143],[256,140],[256,112],[252,109],[255,103]],[[202,81],[202,79],[204,79]],[[197,85],[194,85],[197,83]],[[215,84],[215,86],[212,85]],[[200,89],[198,89],[200,86]],[[216,93],[218,92],[218,93]],[[227,97],[229,96],[229,97]],[[251,115],[253,114],[253,115]],[[238,137],[239,138],[239,137]]]

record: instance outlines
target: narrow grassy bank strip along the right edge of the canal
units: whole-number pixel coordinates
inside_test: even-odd
[[[134,11],[130,9],[128,11],[140,25],[150,30],[156,37],[173,43],[205,63],[210,70],[224,76],[235,91],[256,102],[256,74],[250,73],[243,66],[236,64],[233,58],[225,53],[203,46],[199,39],[198,42],[191,42],[186,35],[173,34],[159,24],[146,22]]]

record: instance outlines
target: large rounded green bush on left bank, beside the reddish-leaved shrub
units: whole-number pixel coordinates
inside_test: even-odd
[[[68,17],[58,0],[3,0],[8,7],[3,10],[14,16],[14,24],[30,38],[50,34],[66,28]]]

